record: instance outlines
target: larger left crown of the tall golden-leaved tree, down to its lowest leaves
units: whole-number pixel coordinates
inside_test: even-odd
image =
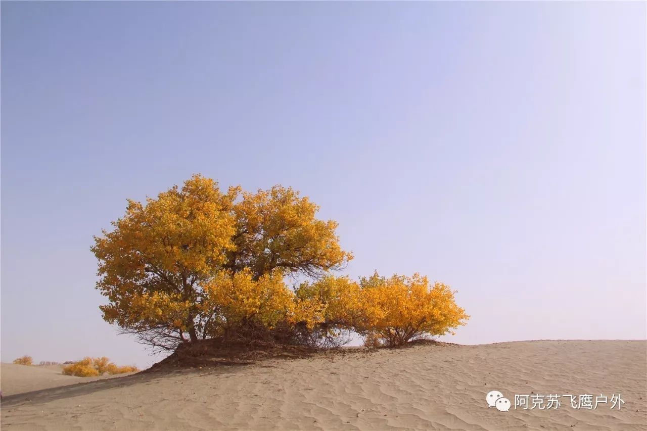
[[[146,205],[128,201],[113,232],[95,238],[93,252],[107,296],[104,319],[122,327],[193,329],[195,285],[226,261],[236,232],[232,208],[237,189],[221,193],[217,182],[195,175]]]

